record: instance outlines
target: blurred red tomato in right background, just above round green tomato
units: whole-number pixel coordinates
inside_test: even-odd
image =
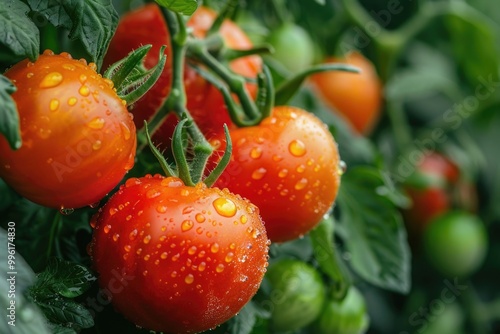
[[[475,206],[475,189],[461,179],[458,166],[438,152],[425,155],[417,170],[405,183],[412,206],[404,212],[412,234],[420,235],[429,222],[453,207]]]

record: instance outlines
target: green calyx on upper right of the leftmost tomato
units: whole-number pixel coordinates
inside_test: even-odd
[[[162,46],[156,66],[149,70],[144,69],[142,62],[151,47],[145,45],[132,51],[127,57],[112,64],[104,73],[104,78],[113,81],[117,95],[125,100],[127,105],[133,104],[146,94],[159,79],[165,67],[166,46]]]

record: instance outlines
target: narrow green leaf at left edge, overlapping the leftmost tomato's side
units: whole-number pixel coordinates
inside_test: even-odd
[[[0,75],[0,133],[5,136],[10,147],[15,150],[21,147],[21,131],[19,129],[19,115],[16,102],[11,94],[16,87],[5,76]]]

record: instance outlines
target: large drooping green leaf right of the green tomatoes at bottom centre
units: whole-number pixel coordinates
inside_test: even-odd
[[[411,284],[406,230],[381,172],[361,166],[348,170],[337,203],[352,268],[378,287],[407,293]]]

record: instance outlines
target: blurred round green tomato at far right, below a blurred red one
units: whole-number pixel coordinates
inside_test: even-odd
[[[447,277],[475,272],[487,251],[487,232],[475,215],[450,211],[433,219],[425,229],[423,248],[429,261]]]

